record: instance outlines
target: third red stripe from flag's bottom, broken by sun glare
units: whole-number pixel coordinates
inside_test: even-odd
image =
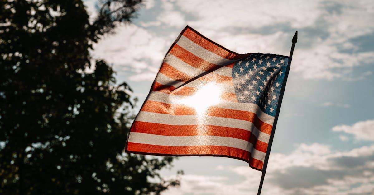
[[[147,100],[144,103],[143,107],[141,108],[141,111],[170,115],[196,115],[195,109],[189,106],[173,105],[150,100]],[[217,108],[214,106],[210,106],[207,109],[205,115],[249,121],[253,123],[254,126],[257,127],[257,129],[263,133],[270,134],[272,131],[272,126],[261,121],[253,112]]]

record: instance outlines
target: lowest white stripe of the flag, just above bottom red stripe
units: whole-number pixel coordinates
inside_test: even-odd
[[[131,132],[129,142],[159,146],[226,146],[251,152],[251,156],[263,161],[265,153],[253,148],[246,140],[221,136],[163,136]]]

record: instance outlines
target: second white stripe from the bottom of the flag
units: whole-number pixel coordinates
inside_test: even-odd
[[[166,125],[214,125],[232,127],[251,131],[261,142],[268,143],[270,135],[258,130],[253,123],[245,120],[203,115],[169,115],[155,112],[140,111],[135,121]]]

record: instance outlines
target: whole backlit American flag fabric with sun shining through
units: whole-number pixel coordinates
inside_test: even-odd
[[[288,57],[238,54],[186,27],[131,126],[126,152],[263,163]]]

